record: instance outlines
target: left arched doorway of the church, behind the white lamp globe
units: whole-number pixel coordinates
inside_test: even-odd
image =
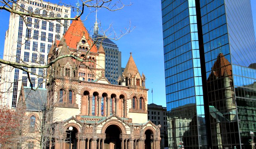
[[[71,149],[77,149],[76,133],[78,133],[76,127],[73,127],[72,131],[69,131],[69,128],[66,129],[65,149],[69,149],[69,146],[71,146]]]

